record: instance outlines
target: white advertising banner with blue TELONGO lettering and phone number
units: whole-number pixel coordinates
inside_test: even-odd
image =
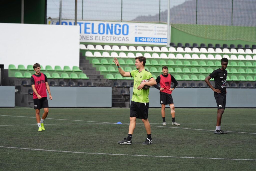
[[[50,25],[59,25],[59,20],[48,19]],[[74,20],[62,20],[62,25],[74,25]],[[156,44],[167,43],[166,24],[148,24],[112,21],[82,21],[80,26],[80,42]]]

